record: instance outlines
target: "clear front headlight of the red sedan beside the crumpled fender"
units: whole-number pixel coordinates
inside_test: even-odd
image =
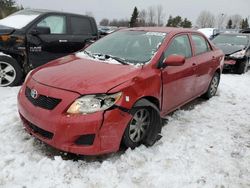
[[[69,114],[91,114],[98,111],[104,111],[112,107],[122,96],[122,92],[107,95],[86,95],[79,99],[69,107]]]

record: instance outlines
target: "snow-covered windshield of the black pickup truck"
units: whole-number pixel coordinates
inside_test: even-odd
[[[38,12],[33,11],[19,11],[12,14],[2,20],[0,20],[0,25],[7,27],[12,27],[15,29],[22,29],[39,16]]]

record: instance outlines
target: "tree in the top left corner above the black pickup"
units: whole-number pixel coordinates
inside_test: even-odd
[[[23,9],[22,6],[17,6],[14,0],[0,0],[0,19]]]

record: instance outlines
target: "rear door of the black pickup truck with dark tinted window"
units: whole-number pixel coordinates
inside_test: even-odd
[[[72,51],[78,51],[82,49],[87,41],[96,40],[98,33],[95,23],[91,18],[85,16],[70,16],[70,33],[72,35],[70,39],[70,46]]]

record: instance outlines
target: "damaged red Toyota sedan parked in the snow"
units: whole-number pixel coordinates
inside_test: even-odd
[[[18,109],[30,134],[63,151],[151,146],[164,116],[216,94],[223,61],[197,31],[125,29],[32,71]]]

